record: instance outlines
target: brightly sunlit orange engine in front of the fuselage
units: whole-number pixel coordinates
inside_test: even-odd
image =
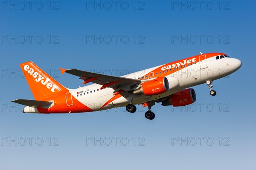
[[[166,77],[159,77],[144,82],[140,88],[134,91],[134,95],[145,94],[146,96],[162,94],[169,90],[169,82]]]

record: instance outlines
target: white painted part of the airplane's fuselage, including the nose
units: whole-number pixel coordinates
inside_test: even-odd
[[[184,61],[186,60],[184,59]],[[166,96],[170,96],[184,88],[203,84],[207,80],[213,81],[215,79],[220,79],[238,70],[241,66],[241,62],[239,59],[215,59],[215,56],[213,56],[207,59],[198,59],[198,62],[192,62],[192,65],[191,63],[186,63],[186,67],[179,65],[182,68],[179,67],[177,69],[177,67],[175,67],[175,72],[166,72],[166,67],[162,66],[163,65],[143,70],[143,75],[142,71],[139,71],[123,76],[127,78],[138,79],[142,76],[147,75],[147,79],[142,79],[142,81],[148,81],[156,77],[166,77],[169,80],[170,90],[166,91],[163,94],[153,96],[131,95],[133,98],[133,104],[140,104],[160,99]],[[161,68],[161,74],[160,72],[154,72],[154,70],[156,70],[157,68]],[[165,72],[163,73],[163,71]],[[101,86],[102,85],[98,84],[86,85],[81,88],[70,90],[70,93],[72,94],[72,98],[76,98],[77,100],[79,100],[79,102],[91,108],[93,111],[105,110],[114,107],[123,107],[129,103],[128,97],[123,96],[111,100],[113,98],[114,90],[112,88],[105,88],[100,90]],[[109,100],[111,101],[108,102]],[[104,105],[105,103],[108,104],[102,107],[102,105]]]

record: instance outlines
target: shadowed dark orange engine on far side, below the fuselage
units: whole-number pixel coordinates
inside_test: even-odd
[[[163,106],[186,106],[194,103],[196,100],[195,90],[187,88],[172,94],[167,100],[162,102]]]

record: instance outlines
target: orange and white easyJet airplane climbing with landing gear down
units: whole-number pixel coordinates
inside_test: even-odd
[[[16,99],[25,105],[23,113],[81,113],[126,107],[134,113],[135,105],[148,107],[145,118],[153,120],[151,107],[155,103],[173,107],[196,101],[195,85],[207,83],[210,95],[215,96],[212,82],[226,77],[241,67],[239,59],[223,53],[207,53],[169,62],[121,77],[63,69],[61,74],[73,74],[90,85],[76,89],[65,88],[33,62],[20,64],[35,100]]]

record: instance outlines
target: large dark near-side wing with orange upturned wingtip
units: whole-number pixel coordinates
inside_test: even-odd
[[[88,72],[88,71],[81,71],[81,70],[76,70],[76,69],[63,69],[63,68],[59,68],[61,70],[61,73],[69,73],[69,74],[73,74],[75,76],[80,77],[80,79],[83,79],[84,82],[83,84],[86,84],[88,82],[93,82],[99,85],[102,85],[102,88],[107,88],[107,87],[111,87],[114,89],[119,88],[122,89],[122,87],[127,87],[129,86],[129,88],[127,89],[133,89],[136,88],[141,80],[139,79],[130,79],[130,78],[126,78],[126,77],[115,77],[115,76],[108,76],[108,75],[104,75],[104,74],[98,74],[98,73],[92,73],[92,72]]]

